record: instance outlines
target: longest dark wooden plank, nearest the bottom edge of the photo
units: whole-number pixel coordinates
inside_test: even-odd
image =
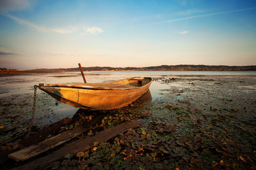
[[[45,155],[44,157],[33,160],[28,164],[24,164],[23,166],[16,167],[14,169],[42,169],[43,167],[51,164],[51,162],[61,159],[67,153],[72,153],[74,155],[77,152],[88,150],[92,148],[95,141],[108,141],[109,139],[127,131],[128,129],[136,128],[140,125],[140,120],[132,120],[131,122],[125,122],[120,125],[116,125],[115,127],[110,127],[109,129],[98,132],[97,134],[95,134],[95,136],[88,136],[86,138],[74,141],[73,143],[69,143],[68,145],[63,146],[63,148],[60,148],[60,150],[57,150],[56,152],[52,152],[49,155]]]

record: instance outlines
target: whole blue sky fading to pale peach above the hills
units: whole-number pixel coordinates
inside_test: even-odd
[[[0,0],[0,67],[256,65],[255,0]]]

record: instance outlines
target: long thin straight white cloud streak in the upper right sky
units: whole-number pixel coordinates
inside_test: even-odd
[[[195,15],[195,16],[191,16],[191,17],[184,17],[184,18],[177,18],[177,19],[173,19],[173,20],[164,20],[162,22],[155,22],[154,24],[164,24],[164,23],[169,23],[169,22],[176,22],[179,20],[190,20],[193,18],[200,18],[200,17],[207,17],[207,16],[211,16],[211,15],[221,15],[221,14],[225,14],[225,13],[234,13],[234,12],[238,12],[238,11],[247,11],[247,10],[255,10],[256,8],[245,8],[245,9],[241,9],[241,10],[232,10],[232,11],[223,11],[223,12],[217,12],[217,13],[208,13],[208,14],[203,14],[203,15]]]

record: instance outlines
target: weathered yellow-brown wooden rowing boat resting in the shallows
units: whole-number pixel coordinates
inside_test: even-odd
[[[109,83],[39,84],[61,103],[77,108],[113,110],[133,103],[148,91],[152,78],[132,77]]]

